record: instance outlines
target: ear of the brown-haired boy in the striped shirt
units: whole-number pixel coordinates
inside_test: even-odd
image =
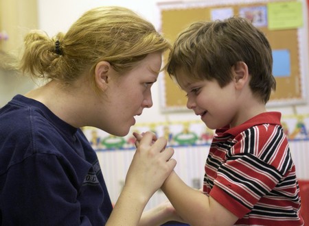
[[[249,70],[245,62],[237,62],[232,66],[233,82],[236,89],[242,89],[249,81]]]

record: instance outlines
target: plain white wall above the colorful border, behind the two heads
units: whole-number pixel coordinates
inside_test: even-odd
[[[222,2],[222,0],[209,0],[211,3],[215,1]],[[225,0],[227,1],[227,0]],[[71,23],[73,23],[84,11],[100,5],[121,5],[132,10],[135,10],[141,16],[144,16],[148,21],[152,22],[157,29],[160,28],[160,11],[158,4],[173,2],[173,0],[160,1],[160,0],[38,0],[38,26],[44,29],[49,35],[54,35],[59,31],[66,31]],[[176,1],[174,1],[176,2]],[[179,1],[178,1],[179,2]],[[193,1],[185,1],[193,2]],[[306,3],[306,1],[304,1]],[[306,11],[305,11],[306,12]],[[306,21],[305,21],[306,25]],[[306,59],[308,61],[308,59]],[[307,64],[308,65],[308,64]],[[309,84],[307,79],[306,83]],[[162,113],[161,109],[161,92],[159,83],[152,86],[152,99],[153,107],[145,109],[144,113],[137,118],[137,123],[148,122],[151,118],[152,121],[185,121],[185,120],[198,120],[198,117],[192,112],[170,112]],[[308,95],[308,94],[307,94]],[[308,96],[309,97],[309,96]],[[276,106],[268,108],[268,110],[278,110],[283,114],[309,114],[308,102],[302,105],[290,106]]]

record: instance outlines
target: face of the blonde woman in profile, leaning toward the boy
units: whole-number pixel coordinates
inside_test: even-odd
[[[161,53],[150,53],[125,75],[111,76],[104,91],[100,128],[109,134],[126,136],[135,116],[152,107],[151,86],[161,68]]]

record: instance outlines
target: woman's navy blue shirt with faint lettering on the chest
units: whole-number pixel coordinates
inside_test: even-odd
[[[0,109],[0,225],[105,225],[111,211],[81,129],[22,95]]]

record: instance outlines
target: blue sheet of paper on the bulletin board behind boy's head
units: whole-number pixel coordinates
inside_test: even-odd
[[[273,50],[273,76],[290,76],[290,51],[288,49]]]

